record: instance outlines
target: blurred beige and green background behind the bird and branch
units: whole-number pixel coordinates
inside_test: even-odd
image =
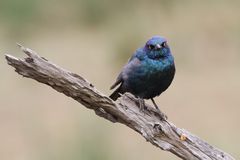
[[[1,160],[177,160],[133,130],[17,75],[19,42],[109,95],[121,67],[153,35],[177,73],[156,98],[169,120],[240,158],[240,1],[0,0]]]

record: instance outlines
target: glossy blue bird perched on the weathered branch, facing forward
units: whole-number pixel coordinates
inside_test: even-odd
[[[174,75],[174,58],[167,40],[161,36],[154,36],[143,47],[137,49],[123,67],[110,89],[120,86],[110,98],[116,100],[121,94],[130,92],[139,98],[140,108],[145,107],[144,99],[151,99],[155,108],[159,110],[153,98],[170,86]]]

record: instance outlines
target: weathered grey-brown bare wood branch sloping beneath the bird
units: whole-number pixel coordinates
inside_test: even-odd
[[[128,126],[162,150],[186,160],[234,159],[192,133],[161,119],[159,112],[153,107],[148,106],[147,110],[141,111],[137,99],[131,94],[124,94],[117,101],[112,101],[81,76],[53,64],[28,48],[21,45],[19,47],[27,55],[26,58],[18,59],[6,55],[8,64],[17,73],[51,86],[94,110],[98,116]]]

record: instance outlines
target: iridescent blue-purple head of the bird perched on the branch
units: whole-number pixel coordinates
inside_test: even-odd
[[[147,41],[144,50],[151,59],[160,59],[171,55],[167,40],[164,37],[154,36]]]

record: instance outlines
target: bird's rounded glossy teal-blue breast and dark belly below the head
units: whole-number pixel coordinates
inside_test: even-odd
[[[126,79],[126,88],[142,98],[161,94],[171,84],[175,73],[171,60],[144,60],[131,70]]]

